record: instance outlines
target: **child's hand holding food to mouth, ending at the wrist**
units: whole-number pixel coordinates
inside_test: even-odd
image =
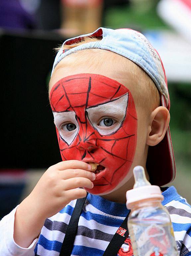
[[[48,168],[28,200],[35,203],[39,214],[46,219],[71,200],[85,197],[83,188],[93,188],[93,180],[95,173],[91,172],[91,165],[77,160],[60,162]]]

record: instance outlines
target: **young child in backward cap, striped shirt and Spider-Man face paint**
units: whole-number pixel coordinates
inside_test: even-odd
[[[175,176],[163,65],[141,33],[99,28],[63,43],[49,99],[63,162],[1,220],[0,255],[67,255],[60,251],[76,199],[88,192],[71,255],[101,256],[129,213],[133,168],[142,165],[159,186]],[[191,255],[191,207],[174,187],[161,190],[179,255]],[[132,256],[124,240],[115,255]]]

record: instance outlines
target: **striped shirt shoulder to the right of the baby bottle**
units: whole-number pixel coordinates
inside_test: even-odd
[[[162,194],[164,196],[162,204],[170,214],[177,247],[181,255],[186,255],[191,252],[191,206],[173,186]]]

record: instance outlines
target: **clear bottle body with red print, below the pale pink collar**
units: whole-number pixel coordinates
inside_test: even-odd
[[[177,256],[168,211],[160,200],[147,199],[131,206],[128,218],[134,256]]]

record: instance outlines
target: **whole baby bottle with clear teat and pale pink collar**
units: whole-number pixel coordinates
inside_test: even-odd
[[[176,242],[168,211],[162,206],[158,186],[146,179],[144,168],[133,170],[135,185],[127,191],[128,229],[134,256],[177,256]]]

